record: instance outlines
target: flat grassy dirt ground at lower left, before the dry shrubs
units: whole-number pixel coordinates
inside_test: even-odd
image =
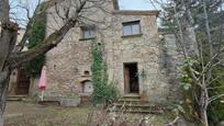
[[[8,102],[4,126],[85,126],[89,112],[88,107]]]

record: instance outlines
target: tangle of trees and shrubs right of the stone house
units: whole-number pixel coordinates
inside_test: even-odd
[[[181,87],[187,116],[204,126],[216,126],[223,121],[224,106],[223,0],[171,0],[160,4],[165,11],[163,24],[176,35],[183,53]]]

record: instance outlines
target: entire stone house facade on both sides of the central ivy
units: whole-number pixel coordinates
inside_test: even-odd
[[[112,5],[112,4],[111,4]],[[109,10],[112,9],[109,4]],[[54,12],[54,8],[48,12]],[[154,11],[113,11],[102,13],[93,11],[87,14],[92,20],[104,20],[104,23],[93,23],[97,26],[94,41],[80,41],[81,30],[71,28],[63,42],[47,53],[47,94],[48,95],[82,95],[82,82],[91,81],[91,43],[102,43],[104,58],[108,62],[109,80],[121,94],[124,94],[124,62],[137,62],[138,72],[146,71],[146,78],[139,77],[139,93],[147,92],[148,101],[166,103],[176,99],[178,78],[176,65],[179,64],[179,53],[176,41],[167,36],[164,43],[158,38],[157,13]],[[141,21],[142,34],[123,36],[123,22]],[[91,24],[90,22],[85,22]],[[63,25],[61,20],[54,14],[47,16],[47,35]],[[54,28],[53,28],[54,27]],[[89,76],[85,71],[90,71]]]

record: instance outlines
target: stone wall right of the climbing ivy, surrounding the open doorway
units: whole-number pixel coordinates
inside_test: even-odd
[[[105,41],[110,80],[117,84],[120,92],[124,94],[123,65],[124,62],[137,62],[138,73],[143,70],[146,72],[146,78],[139,77],[139,93],[146,91],[148,101],[154,103],[170,101],[169,99],[176,95],[175,92],[178,92],[177,69],[170,68],[179,62],[175,38],[168,35],[165,42],[158,38],[156,15],[119,14],[116,18],[119,24],[107,36],[110,39]],[[141,21],[142,35],[122,36],[122,22],[136,20]],[[171,66],[166,66],[166,60],[169,60]],[[169,72],[168,69],[171,69],[172,72]]]

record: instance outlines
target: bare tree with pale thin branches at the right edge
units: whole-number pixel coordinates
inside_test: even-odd
[[[224,85],[211,85],[215,80],[223,78],[223,73],[213,75],[213,70],[217,66],[223,66],[224,61],[224,45],[222,44],[222,28],[220,31],[220,42],[212,39],[210,22],[210,13],[222,11],[222,0],[150,0],[152,3],[157,3],[164,9],[163,20],[168,23],[168,27],[176,35],[178,44],[181,47],[184,62],[183,77],[188,82],[184,84],[189,87],[197,87],[192,92],[194,95],[197,111],[199,111],[201,122],[204,126],[209,126],[208,106],[224,96],[224,92],[216,95],[210,95],[211,89],[221,89]],[[221,8],[220,8],[221,7]],[[197,12],[195,9],[200,9]],[[200,22],[194,21],[195,18]],[[205,43],[198,39],[197,28],[202,26],[205,34]],[[220,26],[223,24],[220,23]],[[213,47],[213,44],[219,43],[219,49]]]

